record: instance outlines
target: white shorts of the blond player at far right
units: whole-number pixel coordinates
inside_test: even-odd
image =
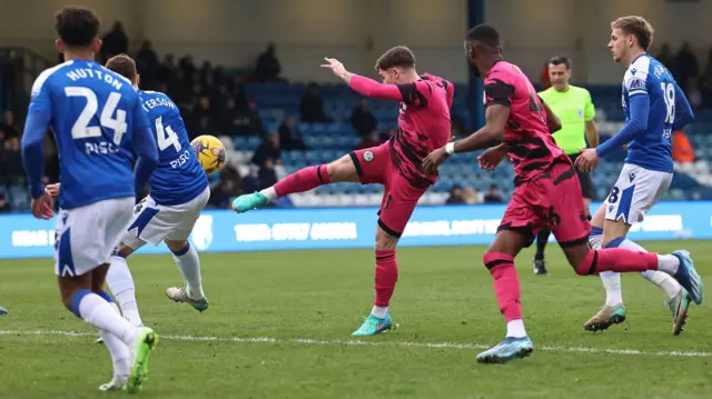
[[[672,173],[647,170],[625,163],[621,176],[606,198],[605,218],[635,225],[643,221],[660,196],[672,183]]]

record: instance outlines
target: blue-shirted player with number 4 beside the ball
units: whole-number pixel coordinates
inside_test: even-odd
[[[168,288],[166,296],[204,311],[208,309],[208,300],[202,292],[200,260],[196,249],[188,242],[188,236],[210,198],[208,178],[190,147],[178,107],[168,96],[140,91],[136,62],[126,54],[109,59],[106,67],[127,78],[138,90],[140,107],[148,116],[159,150],[158,168],[148,182],[150,193],[134,209],[131,223],[111,257],[107,283],[123,317],[134,326],[142,326],[136,286],[126,258],[147,242],[158,246],[162,241],[174,253],[176,266],[186,282],[185,288]],[[49,187],[48,191],[56,194],[58,189]]]

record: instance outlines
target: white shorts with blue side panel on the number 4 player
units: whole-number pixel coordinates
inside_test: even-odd
[[[147,242],[158,246],[164,240],[187,240],[209,199],[209,187],[192,200],[175,206],[158,205],[148,194],[136,205],[121,242],[137,250]]]

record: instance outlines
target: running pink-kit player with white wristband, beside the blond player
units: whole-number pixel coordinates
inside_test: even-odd
[[[702,281],[686,251],[660,256],[621,248],[591,249],[591,223],[583,209],[576,171],[550,133],[560,127],[556,117],[536,96],[526,76],[503,60],[500,34],[494,28],[481,24],[471,29],[465,50],[473,72],[484,77],[486,124],[472,136],[435,150],[424,166],[434,172],[452,153],[490,148],[479,157],[481,167],[494,168],[508,154],[516,174],[512,200],[483,257],[494,278],[507,333],[500,345],[479,353],[477,361],[502,363],[534,350],[522,321],[514,258],[532,245],[544,226],[556,237],[576,275],[661,270],[673,276],[695,301],[702,301]]]

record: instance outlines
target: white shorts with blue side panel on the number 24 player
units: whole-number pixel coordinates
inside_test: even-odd
[[[82,276],[109,263],[131,221],[134,203],[136,198],[123,197],[61,210],[55,238],[57,276]]]

